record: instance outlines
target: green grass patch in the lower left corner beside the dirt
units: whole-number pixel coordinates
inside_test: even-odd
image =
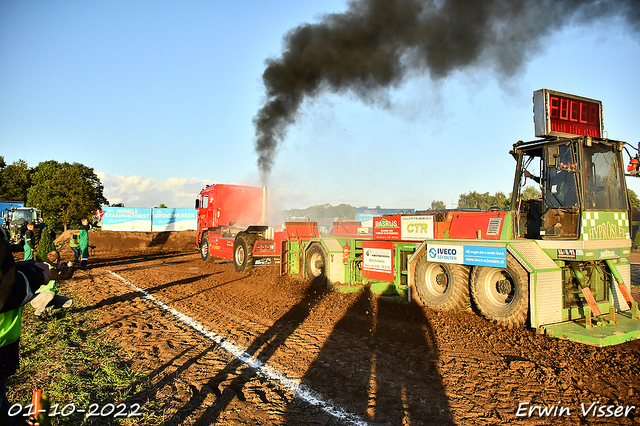
[[[73,297],[73,308],[56,310],[41,322],[32,320],[30,305],[25,307],[20,368],[7,383],[10,403],[25,406],[33,391],[42,389],[52,408],[57,404],[53,425],[162,424],[159,403],[148,397],[148,372],[135,371],[131,356],[101,328],[97,314],[78,309],[86,304]],[[122,417],[136,407],[139,416]],[[95,417],[78,413],[92,409]]]

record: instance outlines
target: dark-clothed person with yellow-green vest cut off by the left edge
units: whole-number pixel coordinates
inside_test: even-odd
[[[0,239],[0,424],[8,424],[11,405],[6,381],[19,366],[22,309],[35,292],[49,282],[50,272],[44,263],[13,260],[11,246]]]

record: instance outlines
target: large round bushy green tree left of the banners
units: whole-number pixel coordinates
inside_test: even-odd
[[[66,229],[109,203],[93,169],[79,163],[44,161],[34,169],[31,181],[27,203],[38,207],[49,225]]]

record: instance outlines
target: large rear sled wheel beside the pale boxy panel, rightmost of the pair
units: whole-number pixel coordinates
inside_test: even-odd
[[[471,296],[480,313],[506,327],[520,327],[529,313],[527,271],[507,256],[505,269],[477,266],[471,276]]]

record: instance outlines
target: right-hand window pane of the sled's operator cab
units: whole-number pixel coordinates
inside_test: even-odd
[[[613,146],[584,147],[584,192],[587,210],[627,210],[622,166]]]

